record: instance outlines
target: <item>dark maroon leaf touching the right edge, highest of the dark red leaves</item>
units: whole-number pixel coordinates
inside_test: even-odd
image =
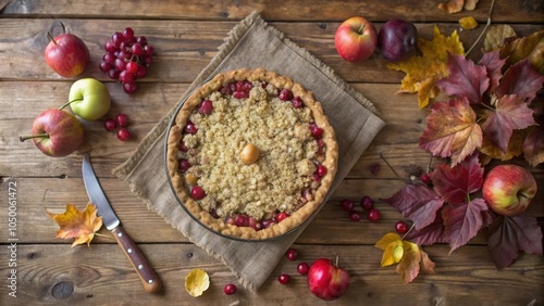
[[[542,88],[542,82],[544,82],[544,75],[539,74],[529,60],[524,59],[506,71],[495,94],[499,98],[506,94],[517,94],[521,100],[530,102],[536,97],[536,91]]]

